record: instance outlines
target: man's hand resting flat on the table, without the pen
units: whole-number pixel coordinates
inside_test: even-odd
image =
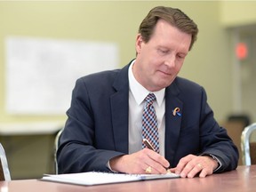
[[[180,174],[182,178],[193,178],[198,173],[199,177],[206,177],[211,175],[217,167],[218,162],[211,156],[188,155],[181,158],[179,164],[170,171]]]

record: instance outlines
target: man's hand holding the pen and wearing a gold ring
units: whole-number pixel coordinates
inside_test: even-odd
[[[151,167],[151,174],[164,174],[169,162],[153,150],[144,148],[136,153],[124,156],[116,156],[109,161],[110,167],[116,172],[131,174],[145,174],[146,169]]]

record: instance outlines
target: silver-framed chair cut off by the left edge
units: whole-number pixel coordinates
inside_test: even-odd
[[[1,143],[0,143],[0,180],[6,180],[6,181],[11,180],[7,158],[5,156],[5,151]]]

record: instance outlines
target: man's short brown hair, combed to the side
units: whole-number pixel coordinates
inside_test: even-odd
[[[160,19],[169,22],[173,27],[179,28],[187,34],[191,34],[190,51],[193,44],[196,42],[198,33],[197,25],[184,12],[181,12],[180,9],[172,7],[156,6],[148,12],[146,18],[140,23],[139,28],[139,33],[142,36],[143,41],[148,43],[150,37],[154,33],[157,21]]]

